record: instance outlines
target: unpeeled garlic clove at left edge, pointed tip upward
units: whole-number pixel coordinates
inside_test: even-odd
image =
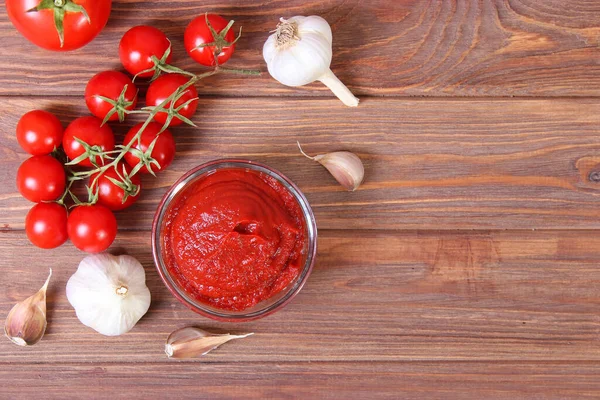
[[[4,334],[14,344],[31,346],[36,344],[46,332],[46,290],[52,276],[52,269],[44,286],[33,296],[23,300],[8,313],[4,323]]]

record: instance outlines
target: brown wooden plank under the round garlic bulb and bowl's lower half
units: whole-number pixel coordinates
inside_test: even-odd
[[[188,325],[256,333],[206,362],[600,361],[599,231],[322,231],[302,292],[243,324],[178,303],[149,249],[148,232],[121,233],[112,248],[146,267],[153,301],[133,331],[106,338],[79,323],[64,294],[84,254],[1,233],[0,314],[37,290],[48,267],[54,275],[43,341],[23,349],[0,340],[0,363],[168,362],[164,340]]]

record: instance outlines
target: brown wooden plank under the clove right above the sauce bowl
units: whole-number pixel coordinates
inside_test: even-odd
[[[4,98],[0,116],[0,223],[20,229],[31,204],[16,191],[27,157],[14,129],[25,111],[55,111],[66,124],[85,115],[78,98]],[[198,128],[173,129],[178,154],[140,202],[119,213],[122,229],[149,229],[166,189],[212,159],[262,161],[294,180],[322,229],[600,228],[600,100],[202,98]],[[226,116],[224,119],[223,116]],[[131,126],[133,122],[127,124]],[[126,126],[117,127],[124,134]],[[345,192],[309,153],[357,152],[364,185]]]

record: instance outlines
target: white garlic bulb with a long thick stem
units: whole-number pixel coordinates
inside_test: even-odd
[[[263,46],[263,57],[269,73],[286,86],[303,86],[321,81],[349,107],[358,99],[331,72],[331,27],[323,18],[281,18]]]

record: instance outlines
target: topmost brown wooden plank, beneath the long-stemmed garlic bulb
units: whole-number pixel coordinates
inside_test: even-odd
[[[138,24],[163,29],[175,63],[199,71],[183,32],[206,11],[244,36],[231,65],[266,71],[262,45],[279,17],[318,14],[333,28],[332,69],[359,95],[598,96],[600,4],[586,0],[114,1],[104,32],[68,54],[36,48],[0,9],[0,94],[81,94],[93,74],[120,68],[118,42]],[[329,96],[322,85],[286,88],[260,78],[215,77],[202,93]]]

